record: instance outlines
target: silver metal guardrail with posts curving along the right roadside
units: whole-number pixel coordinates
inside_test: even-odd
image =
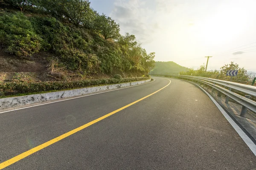
[[[175,75],[175,74],[151,74],[153,76],[164,76],[174,77],[179,79],[185,79],[195,83],[203,84],[204,87],[207,85],[214,90],[218,91],[218,96],[221,93],[226,95],[225,103],[229,102],[229,98],[235,100],[237,103],[242,105],[240,116],[245,116],[247,109],[256,113],[256,101],[251,100],[251,96],[256,96],[256,87],[250,85],[244,85],[236,82],[229,82],[219,79],[211,79],[205,77],[187,76],[187,75]],[[239,93],[235,93],[239,92]]]

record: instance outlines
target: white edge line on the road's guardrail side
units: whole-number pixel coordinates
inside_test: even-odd
[[[193,82],[192,82],[193,83]],[[194,85],[197,85],[193,83]],[[233,121],[233,119],[227,114],[227,112],[218,104],[218,102],[201,86],[197,85],[199,88],[201,88],[212,100],[212,102],[217,106],[217,108],[221,111],[223,116],[227,119],[227,121],[230,123],[230,125],[236,130],[236,132],[239,134],[239,136],[244,140],[244,142],[247,144],[247,146],[250,148],[250,150],[254,153],[256,156],[256,145],[253,143],[253,141],[244,133],[244,131],[239,127],[239,125],[236,124],[236,122]]]

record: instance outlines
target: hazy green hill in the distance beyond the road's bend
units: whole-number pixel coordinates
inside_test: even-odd
[[[178,74],[180,71],[189,71],[189,68],[178,65],[172,61],[157,61],[155,67],[151,70],[151,74]]]

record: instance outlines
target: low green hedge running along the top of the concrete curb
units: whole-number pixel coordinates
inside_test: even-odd
[[[5,82],[0,84],[0,96],[8,96],[42,91],[56,91],[72,88],[83,88],[95,85],[116,84],[148,79],[148,77],[131,77],[122,79],[88,79],[62,82]]]

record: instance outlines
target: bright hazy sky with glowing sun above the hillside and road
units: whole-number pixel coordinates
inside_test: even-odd
[[[256,72],[256,0],[90,0],[134,34],[156,61],[220,69],[234,61]]]

